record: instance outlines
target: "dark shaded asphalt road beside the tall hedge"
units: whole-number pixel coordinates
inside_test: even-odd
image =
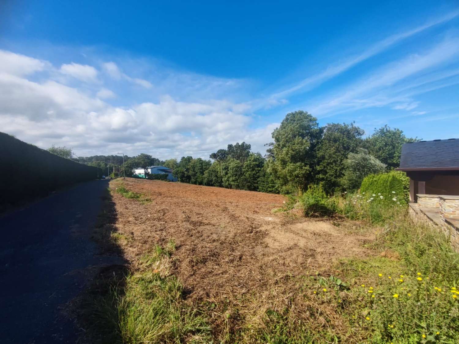
[[[76,184],[0,217],[0,342],[75,343],[78,328],[62,311],[95,266],[90,235],[107,180]]]

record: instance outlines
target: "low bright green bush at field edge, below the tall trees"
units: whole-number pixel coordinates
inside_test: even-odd
[[[305,216],[331,216],[336,212],[335,200],[328,198],[321,185],[309,185],[299,197]]]

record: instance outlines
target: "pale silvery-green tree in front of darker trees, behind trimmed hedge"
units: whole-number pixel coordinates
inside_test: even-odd
[[[368,154],[368,151],[359,148],[358,153],[349,153],[344,161],[345,171],[342,183],[346,190],[360,188],[362,180],[369,174],[378,174],[386,171],[386,165]]]

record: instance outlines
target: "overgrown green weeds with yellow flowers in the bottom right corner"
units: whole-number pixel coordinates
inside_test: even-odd
[[[350,326],[369,343],[459,343],[459,255],[448,239],[400,216],[373,245],[392,253],[336,266],[353,284]]]

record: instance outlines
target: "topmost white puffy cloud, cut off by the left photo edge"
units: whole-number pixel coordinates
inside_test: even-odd
[[[41,72],[48,63],[11,51],[0,50],[0,72],[23,76],[34,72]]]

